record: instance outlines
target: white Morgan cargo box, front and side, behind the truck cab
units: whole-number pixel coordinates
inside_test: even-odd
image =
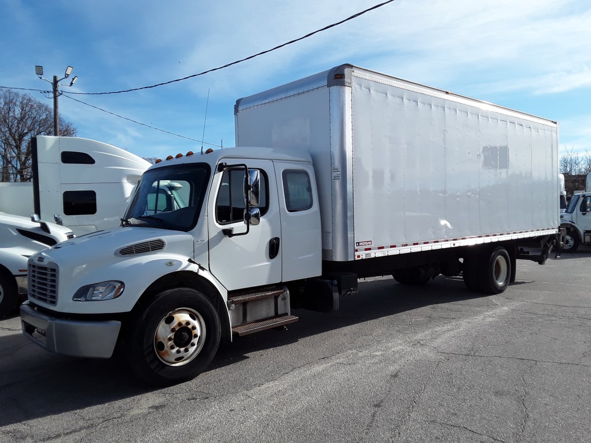
[[[557,232],[551,120],[342,65],[239,99],[235,125],[310,152],[324,260]]]

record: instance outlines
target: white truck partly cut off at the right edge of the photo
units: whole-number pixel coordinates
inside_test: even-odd
[[[564,252],[574,252],[579,245],[591,246],[591,172],[585,190],[575,191],[569,207],[560,214],[560,226],[566,229]]]

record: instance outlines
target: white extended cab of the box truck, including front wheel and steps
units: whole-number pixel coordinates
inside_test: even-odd
[[[319,227],[306,153],[230,148],[158,162],[121,227],[31,256],[23,331],[74,356],[111,357],[119,345],[148,382],[192,378],[220,338],[297,320],[288,287],[322,273]]]

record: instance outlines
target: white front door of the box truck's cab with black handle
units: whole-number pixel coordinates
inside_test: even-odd
[[[224,161],[245,163],[244,159]],[[246,165],[260,172],[260,223],[246,233],[243,167],[216,170],[208,203],[210,271],[228,291],[281,281],[281,222],[273,164],[249,160]]]

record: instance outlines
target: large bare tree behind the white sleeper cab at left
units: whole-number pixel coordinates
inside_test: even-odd
[[[53,110],[28,94],[0,90],[0,181],[31,181],[31,137],[53,135]],[[60,118],[60,135],[76,129]]]

